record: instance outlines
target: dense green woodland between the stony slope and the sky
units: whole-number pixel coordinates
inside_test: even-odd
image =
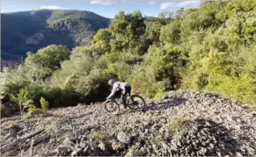
[[[41,97],[50,107],[100,102],[117,78],[150,98],[197,89],[256,104],[255,17],[255,0],[203,3],[154,21],[119,12],[86,46],[47,46],[5,68],[1,96],[37,107]]]

